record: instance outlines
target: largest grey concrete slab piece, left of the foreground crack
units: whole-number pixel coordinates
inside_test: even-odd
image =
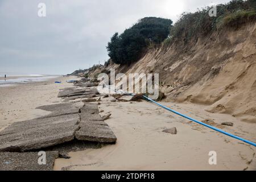
[[[15,122],[0,132],[0,151],[24,152],[71,141],[79,121],[79,114],[68,114]]]

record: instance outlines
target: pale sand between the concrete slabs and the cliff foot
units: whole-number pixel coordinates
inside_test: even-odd
[[[256,141],[256,125],[228,114],[212,114],[204,106],[163,103],[196,119],[233,122],[224,130]],[[71,159],[57,159],[55,169],[71,170],[243,170],[256,169],[255,147],[177,117],[149,102],[103,103],[100,110],[112,113],[106,122],[117,135],[117,144],[71,152]],[[176,127],[177,135],[162,130]],[[208,163],[209,151],[217,152],[217,165]]]

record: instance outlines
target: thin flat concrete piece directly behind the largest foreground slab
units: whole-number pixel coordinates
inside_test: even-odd
[[[48,115],[44,115],[43,117],[40,117],[40,118],[49,118],[49,117],[55,117],[59,115],[80,113],[80,109],[83,106],[84,106],[84,102],[76,102],[76,103],[61,103],[61,104],[39,106],[39,107],[36,107],[36,109],[51,111],[52,113]]]

